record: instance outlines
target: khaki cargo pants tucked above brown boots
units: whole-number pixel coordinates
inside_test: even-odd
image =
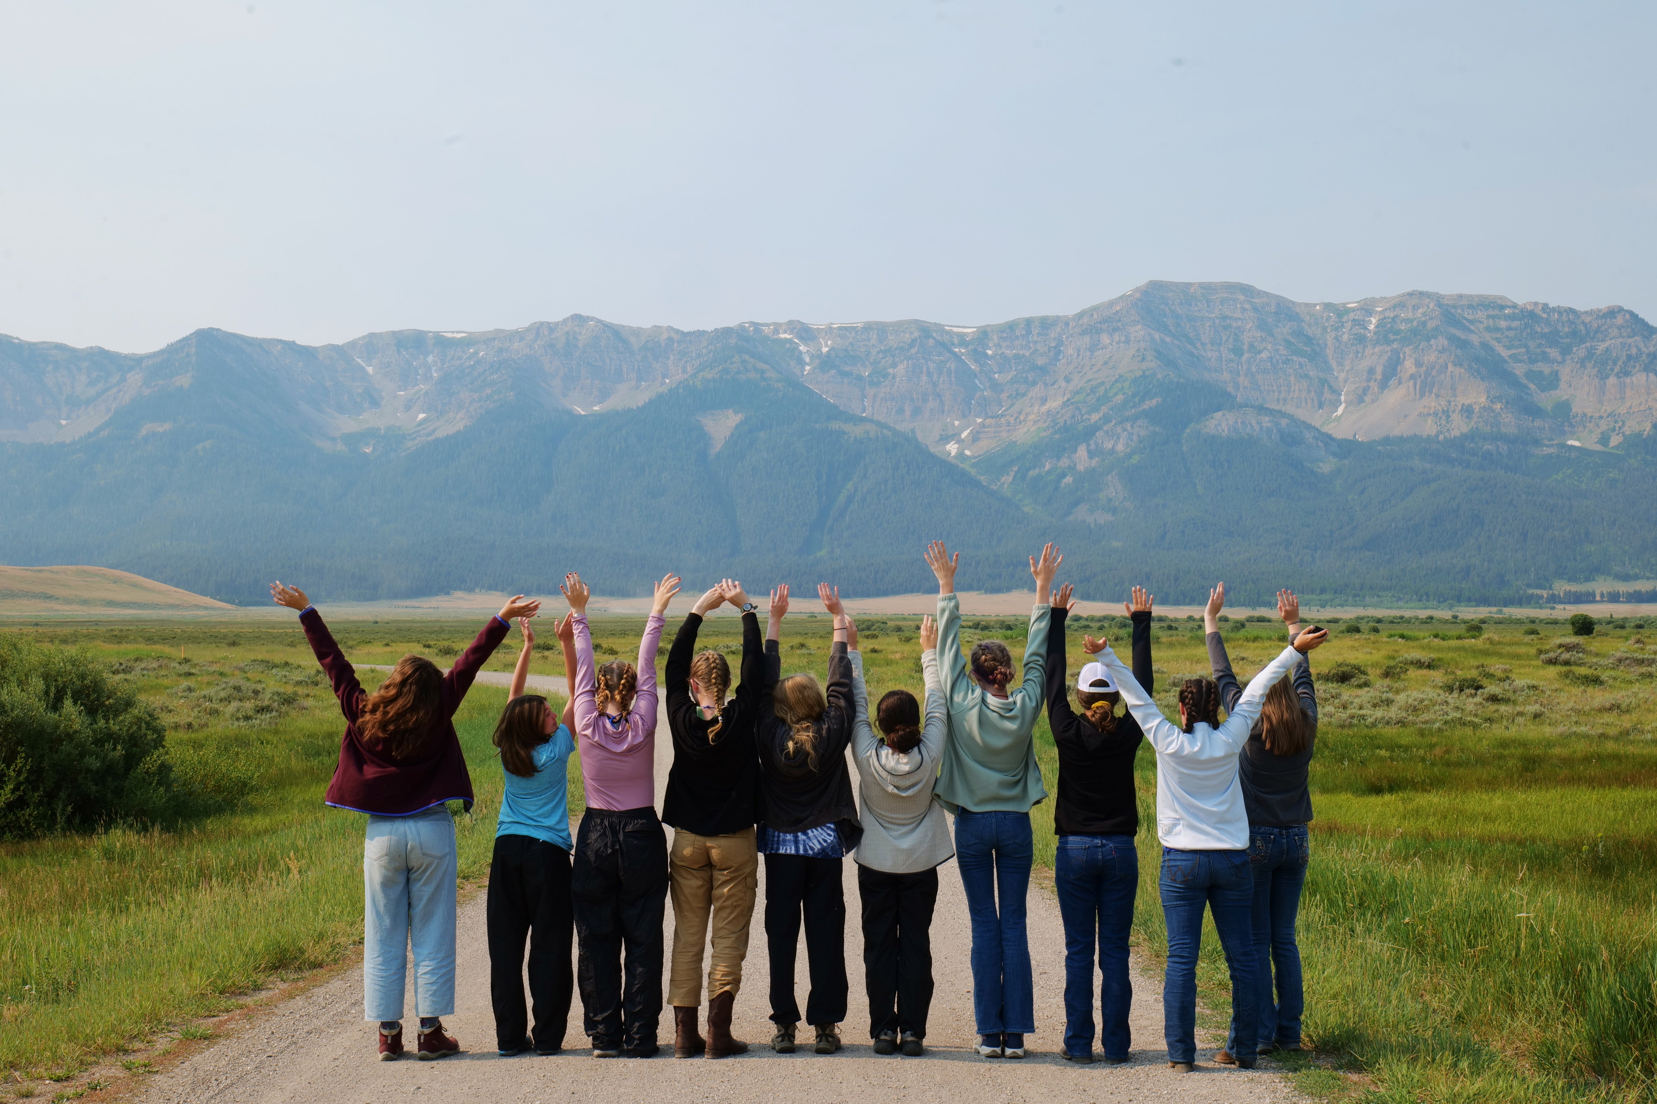
[[[713,960],[708,963],[708,996],[742,988],[747,929],[759,887],[759,854],[754,829],[729,836],[673,831],[668,849],[673,887],[673,972],[668,1003],[696,1008],[703,988],[703,947],[713,920]]]

